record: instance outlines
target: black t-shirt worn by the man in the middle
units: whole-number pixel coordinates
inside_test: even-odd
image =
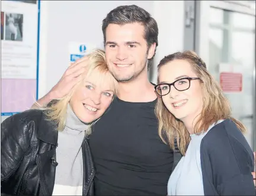
[[[158,136],[155,104],[115,98],[92,127],[95,195],[167,195],[174,159]]]

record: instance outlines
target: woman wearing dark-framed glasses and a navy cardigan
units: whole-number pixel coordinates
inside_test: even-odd
[[[255,195],[245,127],[232,118],[228,99],[203,60],[190,51],[166,56],[155,89],[159,135],[172,149],[177,138],[183,154],[169,178],[168,195]]]

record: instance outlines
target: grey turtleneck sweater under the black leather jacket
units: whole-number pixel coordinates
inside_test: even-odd
[[[59,164],[52,195],[82,195],[82,142],[87,127],[68,105],[66,126],[59,131],[57,139],[56,161]]]

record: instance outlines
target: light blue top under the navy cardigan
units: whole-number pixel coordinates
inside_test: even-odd
[[[219,120],[216,124],[222,121]],[[204,195],[200,145],[203,137],[216,124],[212,124],[206,132],[200,135],[190,134],[191,141],[187,152],[169,178],[168,195]]]

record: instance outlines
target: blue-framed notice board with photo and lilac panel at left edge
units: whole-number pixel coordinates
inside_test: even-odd
[[[40,1],[1,1],[1,115],[37,100]]]

